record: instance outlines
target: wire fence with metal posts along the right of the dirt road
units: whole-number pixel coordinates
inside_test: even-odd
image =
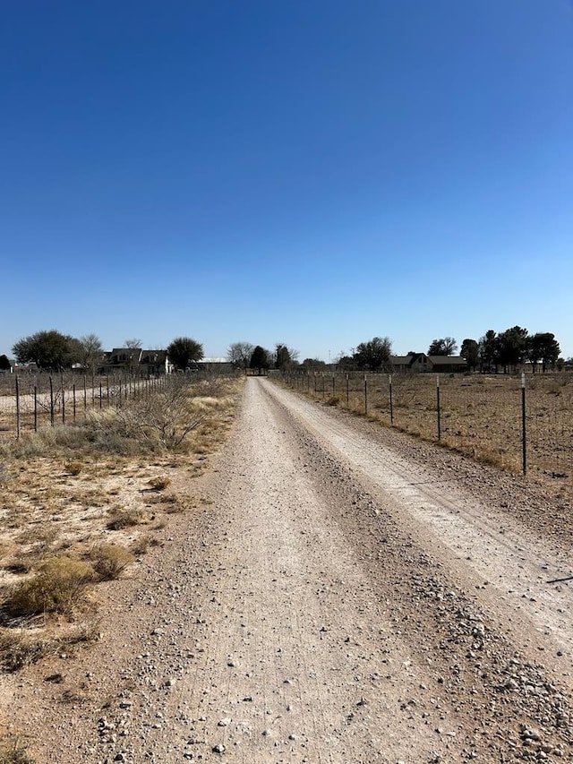
[[[573,374],[303,373],[283,380],[332,406],[440,442],[573,495]]]

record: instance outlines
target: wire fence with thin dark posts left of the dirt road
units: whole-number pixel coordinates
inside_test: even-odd
[[[0,434],[19,438],[42,425],[80,423],[90,410],[149,399],[179,384],[181,374],[5,374],[0,382]],[[205,373],[190,373],[200,382]]]

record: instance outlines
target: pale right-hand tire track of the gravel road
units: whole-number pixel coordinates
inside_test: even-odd
[[[403,520],[411,517],[417,535],[429,537],[434,554],[438,546],[445,546],[450,564],[457,561],[466,575],[473,572],[480,585],[487,581],[496,590],[492,600],[528,619],[532,631],[552,638],[556,646],[547,648],[553,653],[573,657],[569,587],[548,583],[573,577],[570,544],[543,542],[539,534],[507,514],[468,496],[458,485],[444,485],[422,465],[372,443],[304,399],[277,388],[269,394],[308,427],[322,447],[346,461],[371,487],[381,488],[394,499]]]

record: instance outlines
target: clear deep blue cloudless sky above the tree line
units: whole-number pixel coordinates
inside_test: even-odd
[[[573,356],[569,0],[22,0],[0,353],[42,329]]]

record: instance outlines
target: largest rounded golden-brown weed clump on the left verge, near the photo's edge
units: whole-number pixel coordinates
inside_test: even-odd
[[[93,568],[73,557],[52,557],[38,571],[21,582],[5,603],[13,616],[41,613],[73,614],[85,603],[86,589],[93,580]]]

